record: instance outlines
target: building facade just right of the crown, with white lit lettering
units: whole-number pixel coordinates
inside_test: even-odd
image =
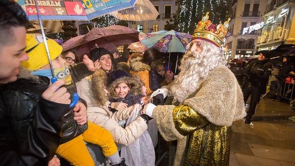
[[[249,57],[257,49],[267,0],[233,0],[232,17],[224,47],[226,58]]]

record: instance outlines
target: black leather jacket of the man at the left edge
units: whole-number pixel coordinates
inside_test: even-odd
[[[47,165],[61,141],[68,104],[41,97],[47,77],[23,77],[0,86],[0,165]]]

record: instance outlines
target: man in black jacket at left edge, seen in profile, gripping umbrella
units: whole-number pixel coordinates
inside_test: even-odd
[[[61,87],[65,82],[56,81],[44,89],[36,112],[21,120],[32,105],[17,105],[21,99],[9,100],[6,93],[17,80],[21,62],[28,60],[27,18],[14,1],[0,1],[0,11],[0,165],[47,165],[61,140],[61,117],[69,109],[70,95]],[[19,90],[10,94],[21,96],[22,88],[26,85],[18,84]],[[30,96],[22,103],[25,100],[35,99]],[[9,109],[7,102],[18,109]]]

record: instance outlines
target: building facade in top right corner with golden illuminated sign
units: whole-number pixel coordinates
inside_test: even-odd
[[[259,50],[271,50],[281,44],[295,44],[295,1],[268,0],[266,23],[257,37]]]

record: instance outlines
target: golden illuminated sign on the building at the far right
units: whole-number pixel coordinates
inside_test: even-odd
[[[285,40],[287,39],[287,32],[288,29],[283,29],[282,27],[279,27],[272,32],[264,32],[261,36],[258,36],[257,44]]]

